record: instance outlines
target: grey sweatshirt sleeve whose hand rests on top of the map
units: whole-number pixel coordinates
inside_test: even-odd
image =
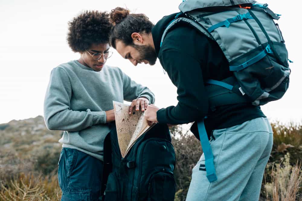
[[[149,100],[150,104],[153,104],[154,94],[148,87],[142,86],[141,84],[136,83],[131,80],[129,76],[127,76],[124,72],[122,72],[123,76],[123,92],[124,92],[124,100],[131,102],[134,99],[145,97]]]

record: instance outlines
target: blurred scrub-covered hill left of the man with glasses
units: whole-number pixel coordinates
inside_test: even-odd
[[[8,174],[56,168],[62,131],[48,130],[42,116],[0,124],[0,180]]]

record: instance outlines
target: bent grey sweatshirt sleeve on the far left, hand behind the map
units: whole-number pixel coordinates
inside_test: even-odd
[[[54,68],[44,99],[44,120],[49,130],[79,131],[94,124],[106,123],[105,111],[70,109],[72,86],[63,68]]]

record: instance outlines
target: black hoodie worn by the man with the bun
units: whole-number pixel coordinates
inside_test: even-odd
[[[222,106],[214,112],[209,110],[204,80],[223,80],[232,76],[232,72],[218,44],[188,24],[178,23],[167,33],[160,48],[162,33],[176,14],[163,17],[152,29],[156,55],[178,94],[178,104],[157,111],[157,120],[185,124],[207,116],[205,126],[209,136],[212,130],[265,117],[260,107],[249,103]],[[196,124],[191,131],[196,136]]]

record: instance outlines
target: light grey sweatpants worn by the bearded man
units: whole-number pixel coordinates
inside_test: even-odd
[[[186,201],[258,201],[265,166],[273,145],[267,118],[214,130],[210,144],[217,181],[206,177],[204,154],[193,168]]]

